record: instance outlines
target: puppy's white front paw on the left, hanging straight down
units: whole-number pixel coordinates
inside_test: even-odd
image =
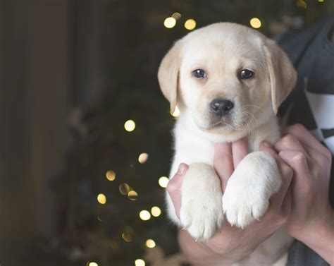
[[[191,164],[182,187],[180,220],[196,240],[208,240],[221,229],[221,184],[208,164]]]

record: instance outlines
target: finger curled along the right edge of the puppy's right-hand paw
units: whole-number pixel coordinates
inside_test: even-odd
[[[282,185],[280,186],[278,192],[275,193],[271,198],[271,205],[280,208],[283,204],[283,200],[287,193],[287,189],[290,187],[293,171],[288,164],[283,162],[283,159],[280,159],[277,152],[273,149],[273,147],[269,143],[261,143],[260,150],[263,152],[268,152],[271,156],[273,156],[276,159],[278,170],[280,171],[280,177],[282,179]]]

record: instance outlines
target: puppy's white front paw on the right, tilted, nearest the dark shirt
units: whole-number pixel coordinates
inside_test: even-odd
[[[259,220],[280,183],[275,159],[264,152],[247,155],[228,180],[223,195],[223,211],[228,222],[244,228]]]

